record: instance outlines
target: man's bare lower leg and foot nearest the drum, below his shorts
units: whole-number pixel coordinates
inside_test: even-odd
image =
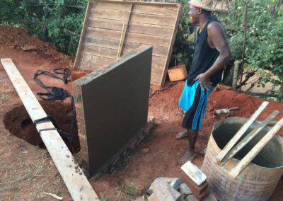
[[[187,130],[187,137],[189,139],[189,146],[187,147],[187,151],[182,158],[182,162],[186,163],[187,161],[192,161],[195,159],[195,143],[197,142],[197,134],[198,130]]]

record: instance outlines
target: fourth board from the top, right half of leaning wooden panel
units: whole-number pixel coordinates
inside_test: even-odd
[[[158,45],[168,47],[170,45],[170,37],[158,36],[158,35],[145,35],[141,33],[127,33],[127,42],[138,42],[144,45]]]

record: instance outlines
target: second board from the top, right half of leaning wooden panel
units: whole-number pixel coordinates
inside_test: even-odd
[[[132,13],[131,21],[134,23],[165,25],[169,27],[175,25],[175,18],[172,18],[171,16],[154,16],[151,14]]]

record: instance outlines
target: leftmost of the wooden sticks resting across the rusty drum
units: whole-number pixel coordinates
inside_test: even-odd
[[[224,149],[222,149],[220,151],[220,153],[217,155],[216,160],[217,161],[222,161],[224,159],[224,157],[226,156],[226,154],[228,153],[228,151],[230,151],[234,145],[238,142],[238,140],[243,136],[243,134],[248,130],[248,127],[250,127],[250,125],[252,125],[252,123],[255,121],[255,119],[260,115],[260,113],[262,112],[262,110],[264,110],[266,108],[266,106],[269,103],[267,101],[263,102],[260,107],[258,108],[258,110],[255,111],[255,113],[253,113],[253,115],[248,119],[248,121],[241,127],[240,130],[238,130],[238,132],[232,137],[232,139],[226,144],[226,146],[224,147]]]

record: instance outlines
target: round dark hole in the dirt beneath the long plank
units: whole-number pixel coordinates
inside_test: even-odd
[[[60,130],[69,133],[71,127],[71,104],[62,101],[40,101],[40,105],[47,115],[51,115]],[[23,105],[18,105],[4,115],[4,125],[14,136],[24,139],[26,142],[45,149],[40,134],[33,125]],[[80,150],[78,127],[75,123],[75,134],[73,142],[64,139],[65,144],[72,154]]]

